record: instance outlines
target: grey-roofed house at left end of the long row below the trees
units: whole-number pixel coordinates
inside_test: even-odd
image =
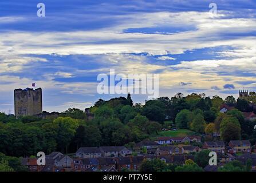
[[[102,156],[100,148],[97,147],[79,148],[76,152],[76,157],[80,158],[97,158]]]

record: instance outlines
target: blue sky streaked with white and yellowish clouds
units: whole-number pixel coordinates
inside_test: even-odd
[[[14,113],[13,90],[32,83],[48,112],[126,96],[97,93],[110,69],[159,74],[159,97],[256,91],[256,1],[0,1],[1,112]]]

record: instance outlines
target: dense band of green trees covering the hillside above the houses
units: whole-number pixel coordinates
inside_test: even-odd
[[[255,96],[250,93],[250,101],[255,102]],[[206,134],[206,140],[213,140],[213,134],[220,133],[225,142],[242,138],[254,143],[256,122],[245,121],[242,114],[253,111],[250,101],[236,101],[232,96],[223,100],[204,94],[184,97],[178,93],[171,99],[160,97],[141,105],[133,104],[128,95],[97,101],[89,109],[94,114],[92,120],[80,109],[68,109],[58,117],[44,120],[31,116],[15,119],[0,113],[0,152],[25,157],[39,151],[73,153],[81,146],[132,146],[162,128],[191,129]],[[220,114],[220,105],[224,103],[237,109]]]

